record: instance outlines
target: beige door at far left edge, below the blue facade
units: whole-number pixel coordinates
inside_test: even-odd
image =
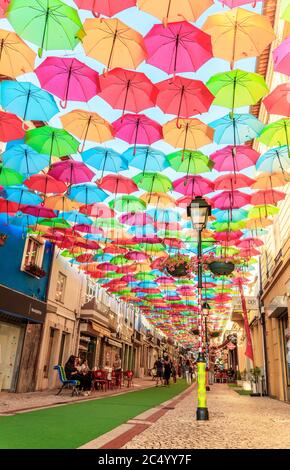
[[[0,391],[14,391],[14,377],[18,372],[23,328],[0,322]]]

